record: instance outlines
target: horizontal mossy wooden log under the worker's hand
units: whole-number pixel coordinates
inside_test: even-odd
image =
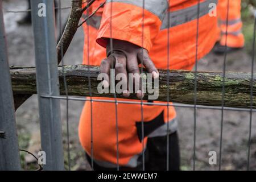
[[[64,72],[63,72],[64,70]],[[36,94],[36,75],[33,67],[11,67],[11,80],[14,96]],[[63,74],[65,73],[69,96],[89,96],[88,77],[94,97],[114,97],[112,93],[100,94],[97,91],[99,67],[87,65],[69,65],[59,67],[60,94],[65,94]],[[167,90],[169,89],[170,101],[182,104],[194,104],[195,73],[189,71],[170,71],[170,85],[167,85],[168,72],[159,70],[159,97],[157,101],[167,101]],[[197,72],[197,105],[221,106],[223,73],[221,72]],[[253,77],[253,108],[256,108],[256,75]],[[226,72],[224,106],[250,108],[251,73]],[[124,98],[117,94],[118,98]],[[131,94],[129,99],[137,99]],[[143,100],[147,100],[145,94]],[[16,102],[16,101],[15,101]]]

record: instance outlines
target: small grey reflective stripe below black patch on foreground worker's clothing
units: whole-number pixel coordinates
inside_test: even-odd
[[[160,126],[158,129],[156,129],[155,131],[153,131],[150,135],[148,135],[148,138],[152,138],[152,137],[163,137],[166,136],[167,134],[172,134],[175,133],[175,131],[177,131],[177,119],[174,118],[171,121],[169,121],[169,130],[167,131],[167,123],[165,123],[164,125]]]

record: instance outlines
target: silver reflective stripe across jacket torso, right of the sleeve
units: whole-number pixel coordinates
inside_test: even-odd
[[[218,3],[218,0],[207,0],[205,2],[200,3],[200,12],[199,12],[199,18],[201,16],[207,15],[209,11],[212,9],[212,7],[209,7],[210,3]],[[194,5],[191,7],[188,7],[186,9],[181,9],[177,11],[169,11],[164,16],[161,30],[175,27],[183,23],[191,22],[192,20],[197,19],[197,6]],[[168,24],[168,14],[170,14],[170,23]]]

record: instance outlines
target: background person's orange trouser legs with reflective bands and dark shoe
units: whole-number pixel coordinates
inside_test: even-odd
[[[220,0],[217,13],[221,37],[213,52],[223,54],[243,48],[245,39],[242,34],[241,0]]]

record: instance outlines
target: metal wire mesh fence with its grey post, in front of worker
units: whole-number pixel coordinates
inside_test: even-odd
[[[139,1],[142,3],[141,7],[142,7],[142,17],[141,17],[141,27],[142,27],[142,47],[144,45],[144,18],[145,18],[145,2],[147,0],[143,0],[143,1]],[[41,1],[40,1],[41,2]],[[201,106],[201,105],[197,105],[197,78],[198,78],[198,73],[197,73],[197,62],[198,62],[198,38],[199,38],[199,27],[203,26],[203,24],[200,24],[199,19],[200,19],[200,4],[201,1],[198,0],[197,1],[197,12],[196,12],[196,21],[197,21],[197,25],[196,25],[196,48],[195,48],[195,72],[194,72],[194,76],[195,76],[195,80],[194,80],[194,99],[193,99],[193,105],[185,105],[185,104],[173,104],[170,103],[171,99],[170,99],[170,95],[172,93],[169,93],[170,91],[167,89],[167,93],[166,93],[166,101],[164,103],[158,103],[158,102],[143,102],[143,99],[141,99],[141,101],[122,101],[122,100],[118,100],[116,94],[114,93],[114,100],[108,100],[106,99],[95,99],[93,98],[93,94],[92,94],[92,88],[91,88],[91,82],[90,82],[90,75],[88,76],[88,85],[89,85],[89,92],[90,92],[90,97],[84,98],[84,97],[72,97],[68,95],[68,84],[66,81],[66,75],[65,75],[65,71],[64,71],[64,65],[65,65],[65,57],[64,57],[64,53],[63,53],[63,49],[61,49],[61,66],[63,68],[63,78],[64,78],[64,89],[65,89],[65,96],[60,96],[59,95],[59,89],[57,88],[57,61],[56,61],[56,52],[52,52],[52,49],[55,49],[55,39],[54,39],[54,23],[53,23],[53,12],[51,14],[48,14],[46,17],[47,18],[39,18],[36,15],[36,11],[38,9],[38,4],[40,3],[39,1],[31,1],[31,5],[32,5],[32,22],[33,22],[33,26],[34,26],[34,36],[35,36],[35,50],[36,50],[36,71],[39,75],[39,77],[37,78],[38,81],[38,99],[39,99],[39,112],[40,112],[40,128],[41,128],[41,137],[42,138],[42,148],[44,151],[47,152],[47,155],[49,156],[49,159],[47,159],[47,166],[48,167],[43,167],[43,169],[64,169],[63,168],[63,151],[62,151],[62,144],[61,141],[62,139],[61,137],[61,131],[60,131],[60,104],[59,104],[59,100],[65,100],[66,101],[66,110],[67,113],[65,113],[65,117],[66,117],[66,127],[67,127],[67,144],[68,144],[68,164],[69,164],[69,170],[71,170],[71,166],[70,166],[70,147],[69,147],[69,101],[73,100],[73,101],[86,101],[86,102],[90,102],[90,126],[91,126],[91,135],[90,135],[90,140],[91,140],[91,149],[90,149],[90,154],[91,154],[91,163],[92,163],[92,169],[94,168],[94,153],[96,151],[94,151],[94,138],[93,138],[93,102],[106,102],[106,103],[113,103],[115,105],[115,109],[113,110],[115,118],[114,121],[115,122],[115,133],[116,133],[116,148],[117,148],[117,154],[116,154],[116,163],[117,163],[117,170],[119,170],[119,121],[118,121],[118,106],[119,104],[130,104],[130,105],[141,105],[141,133],[142,133],[142,138],[144,138],[144,121],[143,121],[143,106],[145,105],[158,105],[158,106],[166,106],[168,109],[170,106],[175,106],[175,107],[187,107],[187,108],[192,108],[193,109],[193,170],[196,169],[196,129],[197,129],[197,109],[212,109],[212,110],[220,110],[221,111],[221,121],[220,121],[220,148],[219,148],[219,156],[218,156],[218,169],[221,170],[221,165],[222,165],[222,136],[223,136],[223,125],[224,125],[224,111],[225,110],[234,110],[234,111],[249,111],[250,114],[250,121],[249,121],[249,134],[248,134],[248,143],[247,143],[247,170],[250,169],[250,147],[251,147],[251,127],[252,127],[252,122],[253,122],[253,112],[255,112],[255,109],[253,109],[253,89],[254,89],[254,61],[255,61],[255,34],[256,34],[256,17],[255,17],[255,24],[254,24],[254,32],[253,32],[253,40],[252,40],[252,49],[254,51],[252,51],[252,55],[251,55],[251,89],[250,89],[250,108],[233,108],[233,107],[226,107],[225,106],[225,93],[226,93],[226,89],[225,89],[225,73],[226,73],[226,59],[227,59],[227,51],[225,51],[225,55],[224,55],[224,59],[223,59],[223,77],[222,77],[222,104],[221,106]],[[46,8],[47,8],[47,12],[50,12],[50,10],[52,9],[52,4],[53,1],[42,1],[46,4]],[[57,1],[58,3],[58,7],[55,7],[55,9],[57,9],[57,17],[58,17],[58,22],[57,24],[59,24],[59,34],[61,35],[63,32],[63,28],[61,28],[61,24],[63,24],[61,22],[61,10],[63,9],[68,9],[70,7],[62,7],[61,6],[61,0]],[[92,3],[94,1],[84,1],[84,3]],[[108,3],[111,3],[112,6],[112,1],[108,1]],[[228,13],[226,15],[226,37],[228,36],[228,24],[229,24],[229,3],[232,3],[232,1],[228,1]],[[1,7],[1,6],[0,6]],[[61,8],[60,8],[61,7]],[[2,7],[1,7],[2,9]],[[20,13],[20,12],[26,12],[26,11],[30,11],[30,10],[24,10],[24,11],[13,11],[13,10],[7,10],[6,13]],[[171,18],[172,18],[172,11],[170,10],[170,7],[168,8],[168,27],[170,26],[170,22],[171,22]],[[112,13],[112,7],[110,12]],[[89,12],[89,8],[85,11],[86,16],[90,16],[90,12]],[[1,18],[1,17],[0,17]],[[112,18],[112,14],[110,15],[110,19]],[[112,20],[110,20],[110,36],[112,36]],[[3,24],[1,23],[1,26],[3,26]],[[43,26],[43,27],[42,27]],[[2,27],[3,28],[3,27]],[[87,35],[85,35],[87,38],[87,44],[89,45],[90,42],[90,37],[89,37],[89,26],[87,26]],[[52,34],[51,34],[52,32]],[[1,40],[2,38],[5,36],[4,32],[1,31]],[[167,31],[167,40],[172,39],[172,35],[170,34],[170,28],[168,28]],[[227,38],[226,38],[227,39]],[[227,41],[227,40],[226,40]],[[225,41],[225,42],[226,42]],[[168,52],[168,57],[167,57],[167,68],[170,68],[170,57],[172,56],[172,53],[170,52],[170,42],[167,41],[167,52]],[[42,44],[43,44],[43,49],[42,49]],[[60,42],[60,44],[62,44]],[[4,46],[4,44],[1,44],[1,46]],[[225,43],[225,49],[227,49],[227,44]],[[62,48],[62,47],[61,47]],[[113,52],[113,39],[110,38],[110,52]],[[92,64],[90,62],[90,53],[89,53],[89,46],[87,47],[87,60],[88,62],[86,64],[90,65]],[[42,53],[43,52],[43,53]],[[1,48],[1,58],[3,57],[4,52],[2,51]],[[142,55],[143,55],[143,49],[142,49]],[[52,57],[51,57],[52,56]],[[45,61],[49,61],[47,64]],[[141,63],[143,65],[143,63]],[[3,68],[1,66],[1,68]],[[112,68],[114,68],[114,65],[112,65]],[[88,67],[88,72],[90,68]],[[141,67],[141,72],[143,72],[143,68]],[[167,69],[167,88],[169,88],[170,86],[170,74],[169,74],[169,69]],[[41,83],[41,84],[40,84]],[[3,86],[1,82],[1,87]],[[10,84],[10,83],[9,83]],[[3,90],[1,90],[1,94],[3,94]],[[5,103],[1,103],[0,108],[5,105],[7,102],[10,101],[5,101]],[[1,108],[2,109],[2,108]],[[5,115],[6,113],[3,113],[3,115]],[[11,114],[11,115],[14,115]],[[169,121],[169,114],[167,114],[167,120]],[[53,125],[53,123],[55,123],[55,125]],[[0,125],[2,126],[2,125]],[[169,131],[169,122],[167,122],[167,131]],[[0,128],[1,130],[1,128]],[[7,136],[8,137],[8,136]],[[169,158],[170,158],[170,138],[169,135],[166,135],[166,139],[167,139],[167,150],[166,150],[166,156],[167,156],[167,160],[166,160],[166,170],[169,170]],[[1,154],[1,150],[2,148],[0,147],[0,154]],[[142,169],[145,169],[145,154],[144,151],[145,150],[145,143],[144,140],[142,139]],[[18,153],[16,153],[16,155],[18,155]],[[18,159],[17,159],[18,160]],[[58,162],[56,162],[58,161]],[[0,162],[1,163],[1,162]],[[5,169],[5,164],[1,164],[2,168]]]

